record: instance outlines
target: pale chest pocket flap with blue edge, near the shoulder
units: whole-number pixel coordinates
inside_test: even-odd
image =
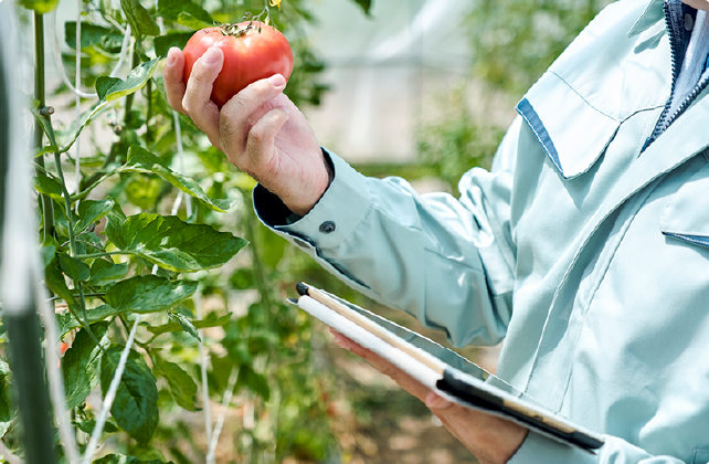
[[[547,72],[529,89],[517,112],[564,179],[591,169],[621,125],[553,72]]]

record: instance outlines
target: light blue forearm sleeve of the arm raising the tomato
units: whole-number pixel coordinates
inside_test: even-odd
[[[287,221],[283,203],[257,186],[261,220],[357,291],[445,330],[454,346],[500,341],[514,287],[511,173],[474,169],[459,199],[420,196],[400,178],[367,178],[327,155],[335,178],[307,215]]]

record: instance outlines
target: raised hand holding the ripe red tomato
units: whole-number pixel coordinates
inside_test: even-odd
[[[290,211],[305,215],[330,179],[313,129],[283,94],[285,77],[275,74],[251,84],[220,110],[210,95],[223,63],[223,52],[209,49],[186,84],[184,56],[180,49],[170,49],[162,70],[170,106],[192,118],[234,166],[278,196]]]

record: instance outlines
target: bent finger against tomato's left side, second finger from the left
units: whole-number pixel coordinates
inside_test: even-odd
[[[224,53],[219,48],[212,46],[207,50],[194,63],[182,98],[186,113],[218,148],[219,107],[212,102],[211,95],[214,80],[222,71],[223,64]]]

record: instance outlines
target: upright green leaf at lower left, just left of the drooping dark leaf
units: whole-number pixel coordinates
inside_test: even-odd
[[[104,349],[110,345],[108,323],[94,324],[91,329]],[[100,354],[102,349],[86,329],[80,330],[62,360],[66,408],[73,409],[82,404],[98,384]]]

